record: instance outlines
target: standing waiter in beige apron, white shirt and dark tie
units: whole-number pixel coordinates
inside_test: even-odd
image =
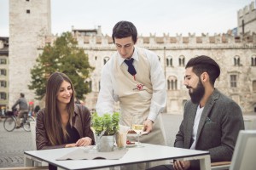
[[[132,117],[142,115],[140,123],[148,135],[140,141],[166,144],[160,116],[166,107],[166,81],[158,56],[135,47],[137,28],[130,21],[119,21],[112,38],[117,52],[102,68],[96,112],[113,113],[113,104],[119,101],[120,124],[131,127]]]

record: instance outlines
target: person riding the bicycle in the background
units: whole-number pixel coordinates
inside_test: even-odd
[[[16,128],[20,128],[20,118],[23,117],[24,113],[28,111],[28,105],[25,99],[25,94],[20,93],[20,98],[17,99],[15,105],[12,106],[12,111],[15,111],[15,107],[19,105],[19,112],[17,116]]]

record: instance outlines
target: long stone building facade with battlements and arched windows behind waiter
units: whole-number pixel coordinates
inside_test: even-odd
[[[91,84],[92,92],[86,95],[85,104],[89,108],[96,105],[100,89],[102,66],[115,51],[111,37],[102,35],[80,35],[73,30],[73,35],[89,54],[90,65],[95,67],[91,78],[85,80]],[[188,90],[183,86],[184,65],[192,57],[208,55],[221,67],[221,76],[216,87],[230,96],[243,112],[254,112],[256,108],[256,35],[237,37],[232,34],[195,37],[138,37],[138,47],[148,48],[159,56],[166,76],[168,113],[182,113],[183,104],[189,99]],[[255,111],[256,112],[256,111]]]

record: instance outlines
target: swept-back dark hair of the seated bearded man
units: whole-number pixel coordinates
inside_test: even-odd
[[[201,55],[192,59],[189,59],[185,68],[192,67],[192,71],[195,72],[197,77],[201,76],[201,73],[207,72],[210,77],[210,82],[214,86],[216,78],[219,77],[220,68],[218,64],[212,58]]]

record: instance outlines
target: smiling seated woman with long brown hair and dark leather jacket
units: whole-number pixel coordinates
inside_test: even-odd
[[[74,99],[73,84],[67,75],[61,72],[50,75],[45,108],[38,111],[37,116],[37,150],[95,144],[90,111],[75,104]]]

